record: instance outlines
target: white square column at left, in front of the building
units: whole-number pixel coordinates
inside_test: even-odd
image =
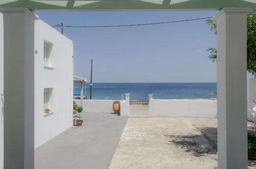
[[[25,8],[4,14],[4,168],[34,168],[34,22]]]

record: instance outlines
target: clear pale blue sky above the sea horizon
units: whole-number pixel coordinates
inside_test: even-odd
[[[99,26],[211,17],[217,11],[35,12],[49,25]],[[56,28],[60,31],[60,28]],[[65,28],[74,42],[74,74],[94,82],[216,82],[205,20],[122,28]]]

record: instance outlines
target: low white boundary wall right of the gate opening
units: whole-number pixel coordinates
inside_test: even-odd
[[[217,118],[217,101],[158,100],[149,94],[150,116],[212,117]]]

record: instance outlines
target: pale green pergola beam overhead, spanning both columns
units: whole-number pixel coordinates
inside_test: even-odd
[[[34,10],[220,10],[256,9],[256,0],[1,0],[0,7]]]

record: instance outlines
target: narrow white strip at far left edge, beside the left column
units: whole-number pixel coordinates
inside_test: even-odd
[[[0,13],[0,169],[4,168],[4,26]]]

